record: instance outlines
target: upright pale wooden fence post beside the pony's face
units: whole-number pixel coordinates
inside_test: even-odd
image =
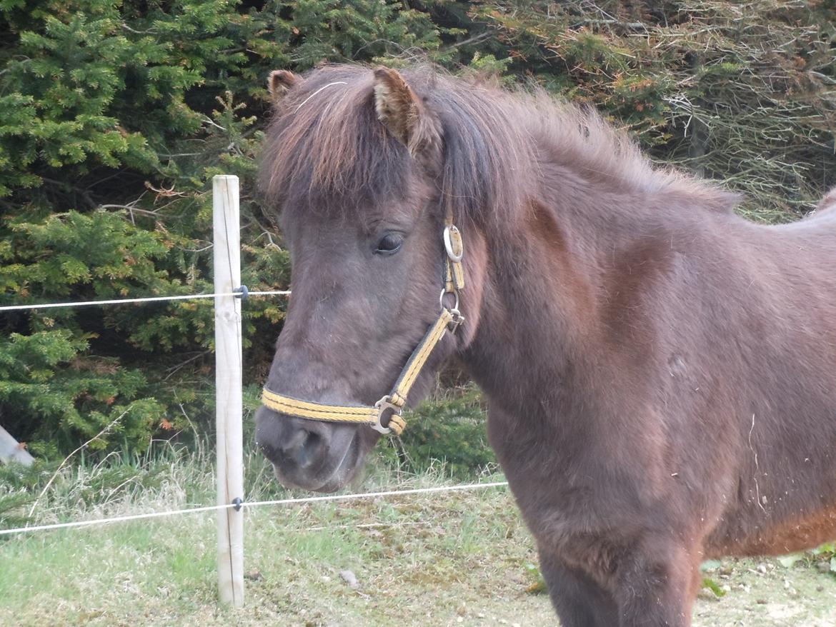
[[[215,293],[241,285],[238,177],[212,179],[212,241]],[[215,297],[215,390],[217,407],[217,504],[244,497],[242,443],[241,300]],[[244,602],[244,512],[217,512],[218,594],[223,603]]]

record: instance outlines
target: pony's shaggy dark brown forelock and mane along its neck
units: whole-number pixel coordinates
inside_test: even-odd
[[[543,164],[631,195],[674,192],[730,207],[731,194],[691,176],[658,168],[623,132],[590,109],[542,90],[507,91],[441,74],[401,70],[441,120],[441,192],[456,215],[477,222],[513,220],[545,182]],[[309,72],[278,104],[263,151],[268,200],[305,208],[362,211],[401,196],[415,163],[380,123],[373,74],[360,65]]]

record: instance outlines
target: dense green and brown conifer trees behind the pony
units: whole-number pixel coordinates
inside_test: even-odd
[[[793,219],[836,184],[834,24],[833,0],[0,0],[0,304],[210,292],[220,172],[242,177],[244,282],[286,288],[254,196],[264,82],[323,61],[541,84]],[[247,303],[251,408],[283,314]],[[103,429],[87,455],[199,439],[211,352],[206,300],[0,314],[0,424],[48,459]],[[442,396],[386,455],[490,461],[472,390]]]

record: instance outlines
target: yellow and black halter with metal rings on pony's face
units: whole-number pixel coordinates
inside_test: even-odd
[[[366,424],[380,433],[394,433],[400,436],[404,431],[406,421],[400,412],[406,405],[406,398],[418,379],[421,369],[430,358],[432,350],[436,348],[441,338],[449,330],[455,333],[458,326],[464,322],[459,313],[459,292],[465,287],[464,269],[461,267],[461,257],[464,255],[464,243],[461,231],[453,224],[453,217],[447,214],[443,232],[444,250],[444,288],[441,289],[441,314],[436,323],[426,332],[424,339],[412,351],[404,369],[400,371],[398,380],[389,394],[378,400],[375,405],[327,405],[314,403],[310,400],[294,399],[292,396],[277,394],[266,387],[262,393],[262,403],[273,411],[281,414],[305,418],[311,421],[352,422]],[[445,296],[451,294],[454,305],[450,308],[444,302]],[[385,415],[389,414],[384,424]]]

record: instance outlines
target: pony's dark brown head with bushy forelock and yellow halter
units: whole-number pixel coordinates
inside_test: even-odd
[[[441,362],[472,341],[486,210],[517,202],[507,164],[523,155],[512,120],[492,104],[500,92],[428,69],[324,66],[273,72],[268,86],[261,182],[291,255],[293,295],[257,442],[285,485],[329,492],[357,474],[380,431],[400,425],[405,399],[392,398],[393,386],[420,400]],[[445,289],[458,252],[446,222],[466,242],[461,294]],[[466,324],[441,334],[456,326],[440,314],[459,298]],[[441,337],[422,343],[434,327]],[[426,365],[405,373],[416,346]],[[402,373],[405,390],[395,385]],[[326,420],[350,407],[365,408],[364,419]]]

